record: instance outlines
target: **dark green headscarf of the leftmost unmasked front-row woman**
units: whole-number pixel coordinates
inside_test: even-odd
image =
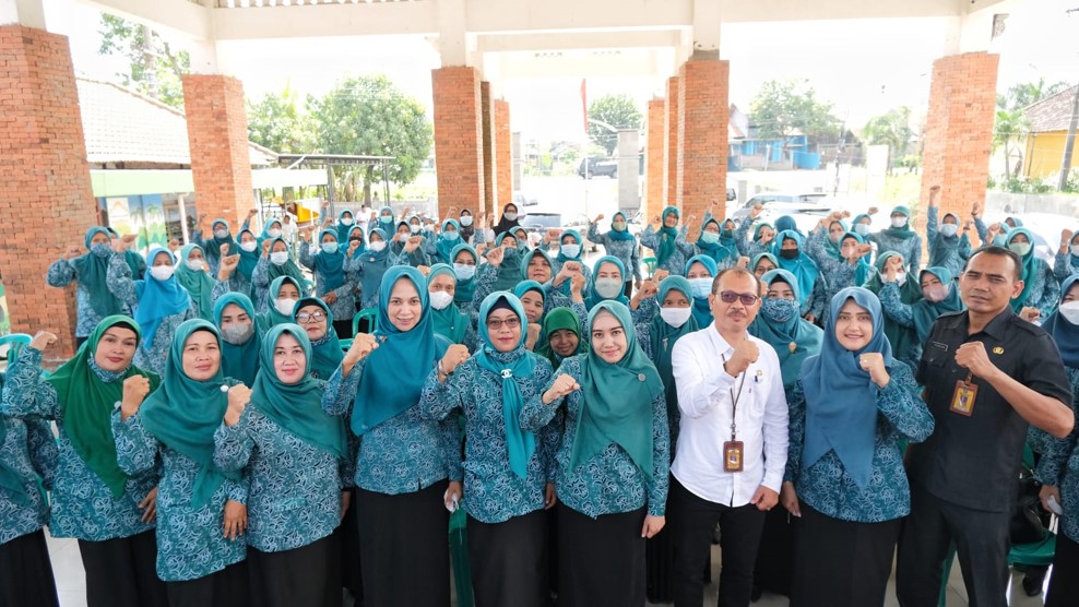
[[[151,392],[161,382],[156,374],[143,371],[134,365],[129,366],[115,381],[107,383],[94,372],[92,365],[96,365],[94,355],[97,354],[97,344],[105,332],[116,325],[134,331],[137,342],[142,337],[142,329],[130,317],[106,317],[97,323],[74,358],[54,371],[46,381],[56,390],[63,429],[71,439],[71,447],[86,463],[86,467],[118,498],[123,495],[128,476],[116,463],[112,407],[117,401],[123,398],[123,380],[132,376],[149,378]]]

